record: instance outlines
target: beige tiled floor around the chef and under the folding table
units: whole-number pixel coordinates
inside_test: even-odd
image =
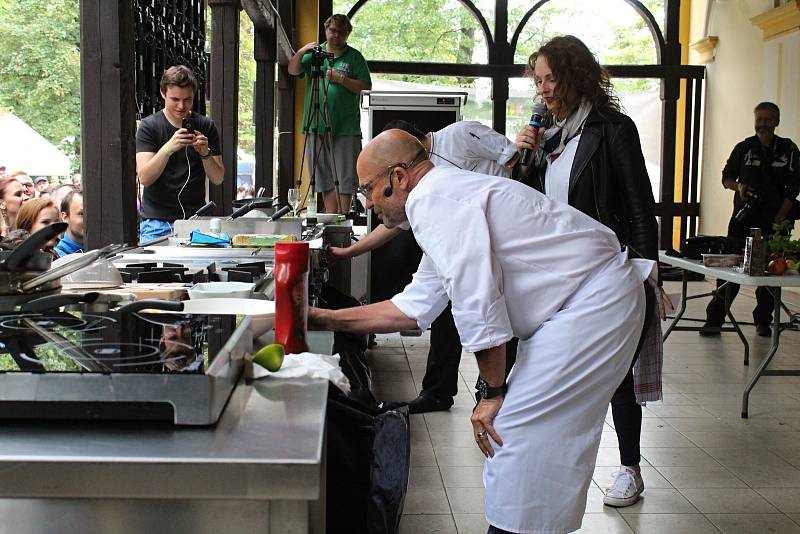
[[[695,282],[691,293],[707,291]],[[668,283],[670,292],[679,284]],[[786,292],[784,292],[786,293]],[[786,300],[800,310],[800,296]],[[706,299],[690,301],[687,316],[703,317]],[[734,315],[750,320],[752,291],[742,289]],[[741,419],[744,384],[769,340],[743,328],[750,366],[736,334],[701,338],[674,332],[665,345],[664,400],[644,410],[644,497],[623,509],[604,507],[604,488],[619,462],[609,412],[580,532],[641,534],[800,534],[800,377],[764,377]],[[416,396],[425,372],[428,338],[379,336],[371,352],[377,393],[384,400]],[[771,368],[800,369],[800,333],[785,332]],[[413,415],[411,476],[403,534],[483,534],[483,456],[469,414],[477,376],[472,355],[461,361],[459,394],[448,412]]]

